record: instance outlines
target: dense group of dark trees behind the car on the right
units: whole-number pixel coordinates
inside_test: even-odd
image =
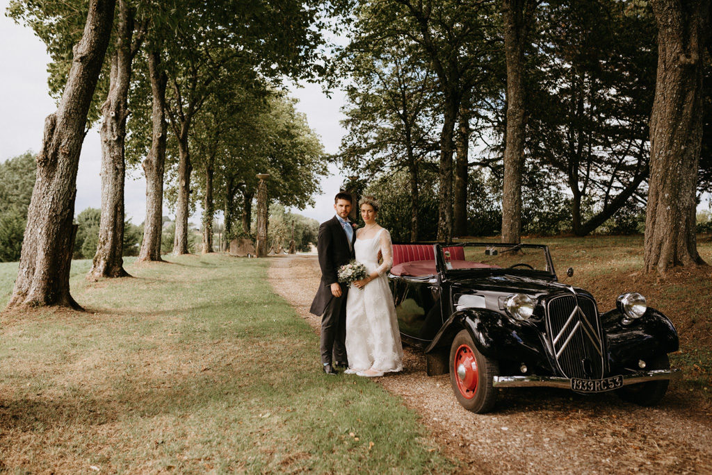
[[[353,80],[340,159],[373,191],[407,187],[411,240],[435,194],[438,240],[472,234],[468,206],[494,201],[502,240],[519,242],[530,193],[565,203],[577,235],[647,206],[646,268],[702,264],[708,4],[363,1],[342,50]]]

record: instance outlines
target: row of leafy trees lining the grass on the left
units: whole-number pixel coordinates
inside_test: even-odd
[[[279,87],[328,73],[325,31],[340,1],[15,0],[51,54],[51,92],[18,279],[9,307],[77,304],[68,276],[83,138],[101,120],[102,203],[90,277],[126,275],[126,164],[147,178],[140,260],[160,260],[165,195],[175,206],[174,254],[188,252],[188,216],[201,201],[204,249],[214,213],[250,223],[257,171],[276,177],[274,201],[300,206],[318,189],[325,157]],[[194,174],[197,171],[199,178]],[[217,186],[216,186],[217,183]]]

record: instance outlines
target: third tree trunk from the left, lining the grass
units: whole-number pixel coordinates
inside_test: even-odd
[[[166,163],[166,73],[159,70],[161,56],[158,50],[148,54],[148,71],[153,93],[153,124],[151,150],[141,166],[146,175],[146,220],[143,242],[138,260],[161,261],[161,235],[163,233],[163,173]]]

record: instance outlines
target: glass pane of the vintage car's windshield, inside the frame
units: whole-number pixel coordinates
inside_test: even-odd
[[[463,244],[438,248],[446,272],[460,269],[518,269],[553,273],[545,246]]]

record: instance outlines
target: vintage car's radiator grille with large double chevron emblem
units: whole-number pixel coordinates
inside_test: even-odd
[[[559,369],[567,378],[603,378],[601,324],[596,303],[575,295],[562,295],[546,308],[549,338]]]

